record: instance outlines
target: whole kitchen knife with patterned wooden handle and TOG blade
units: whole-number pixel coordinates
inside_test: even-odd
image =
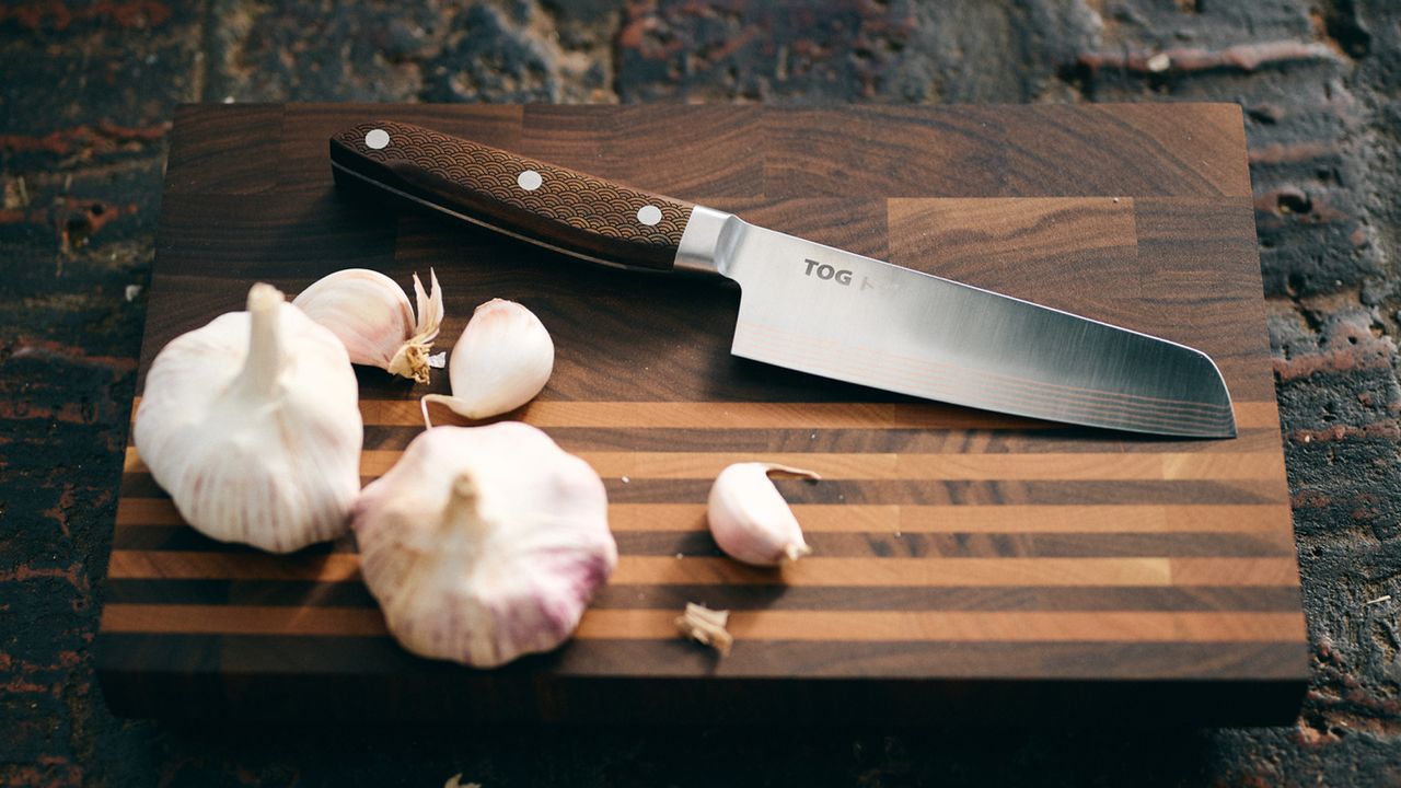
[[[1166,339],[409,123],[335,135],[331,165],[343,186],[587,261],[727,276],[741,289],[737,356],[1023,416],[1236,435],[1216,365]]]

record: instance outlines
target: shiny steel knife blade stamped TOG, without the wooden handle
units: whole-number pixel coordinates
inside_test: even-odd
[[[1202,352],[727,217],[731,351],[822,377],[1097,428],[1231,437]]]

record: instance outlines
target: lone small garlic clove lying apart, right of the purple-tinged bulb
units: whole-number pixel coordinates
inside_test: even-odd
[[[745,564],[775,566],[813,551],[793,510],[773,487],[772,474],[822,478],[773,463],[736,463],[720,471],[710,488],[706,509],[710,536],[720,550]]]

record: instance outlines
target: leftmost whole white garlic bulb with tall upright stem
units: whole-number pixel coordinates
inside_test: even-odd
[[[151,362],[136,449],[185,520],[289,552],[345,533],[360,494],[359,387],[336,337],[254,285],[248,311]]]

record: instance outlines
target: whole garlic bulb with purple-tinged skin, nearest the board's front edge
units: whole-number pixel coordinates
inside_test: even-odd
[[[618,564],[598,474],[520,422],[423,432],[352,524],[395,639],[479,667],[562,644]]]

